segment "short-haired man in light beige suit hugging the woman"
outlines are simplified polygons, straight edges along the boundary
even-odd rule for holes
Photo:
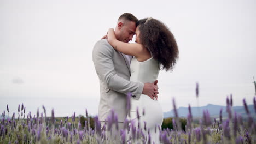
[[[130,13],[122,14],[115,35],[118,40],[128,43],[135,34],[138,19]],[[97,41],[92,52],[96,73],[100,79],[100,104],[98,106],[98,118],[101,125],[113,109],[118,116],[119,128],[123,128],[123,122],[127,117],[126,95],[139,99],[146,94],[154,99],[158,94],[158,87],[154,83],[132,82],[130,80],[131,56],[118,52],[108,44],[107,39]],[[155,82],[157,83],[157,82]]]

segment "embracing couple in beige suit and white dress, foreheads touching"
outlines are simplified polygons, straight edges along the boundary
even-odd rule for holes
[[[134,34],[136,43],[129,44]],[[176,40],[164,23],[150,17],[138,20],[130,13],[122,14],[115,29],[110,28],[92,52],[100,80],[98,118],[102,127],[114,111],[118,128],[123,129],[127,119],[136,127],[141,125],[142,129],[146,124],[147,140],[160,143],[159,129],[155,130],[163,121],[157,100],[157,78],[160,69],[173,69],[178,53]],[[129,111],[126,110],[127,94],[132,95]],[[118,134],[115,139],[119,142],[119,130],[112,128],[106,132],[110,137]]]

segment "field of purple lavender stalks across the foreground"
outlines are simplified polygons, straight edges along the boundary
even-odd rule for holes
[[[127,95],[128,108],[130,96]],[[256,98],[253,98],[254,112],[256,112]],[[172,118],[173,129],[164,129],[160,125],[155,126],[155,131],[159,130],[161,143],[256,143],[256,122],[253,119],[252,111],[248,110],[246,100],[243,105],[247,117],[233,112],[232,96],[226,98],[226,111],[228,118],[223,119],[222,111],[219,118],[210,118],[210,113],[203,111],[203,117],[199,124],[193,122],[190,105],[189,114],[185,129],[181,128],[180,119],[173,99],[175,117]],[[91,118],[85,110],[85,118],[72,117],[55,118],[54,110],[51,117],[46,116],[46,109],[43,106],[43,113],[39,111],[32,116],[27,112],[26,107],[18,106],[18,113],[10,115],[9,107],[3,111],[0,124],[0,143],[155,143],[150,140],[150,134],[146,134],[148,129],[146,123],[134,125],[125,121],[124,128],[118,128],[117,116],[114,111],[108,117],[108,123],[101,125],[98,117]],[[18,115],[18,119],[15,119]],[[146,114],[145,114],[146,115]],[[118,129],[120,141],[111,139],[106,135],[106,131]]]

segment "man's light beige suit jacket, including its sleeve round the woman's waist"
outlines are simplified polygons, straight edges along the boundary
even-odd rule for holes
[[[107,39],[99,40],[94,46],[92,59],[100,80],[100,104],[98,117],[105,121],[111,109],[118,115],[118,121],[124,122],[127,116],[126,95],[131,92],[139,99],[144,84],[130,80],[130,64],[126,57],[109,45]]]

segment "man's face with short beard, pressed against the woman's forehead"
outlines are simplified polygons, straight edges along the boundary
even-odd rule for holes
[[[135,34],[136,23],[133,21],[125,21],[121,27],[119,27],[119,39],[124,43],[128,43],[132,40],[133,35]]]

